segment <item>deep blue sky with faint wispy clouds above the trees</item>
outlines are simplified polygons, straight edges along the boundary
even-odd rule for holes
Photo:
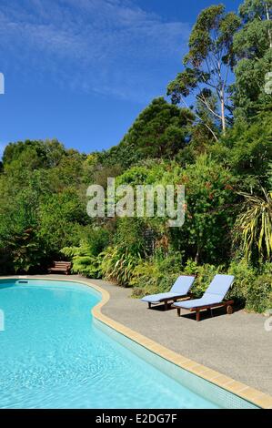
[[[196,15],[219,3],[1,0],[0,152],[26,138],[86,153],[116,145],[181,70]]]

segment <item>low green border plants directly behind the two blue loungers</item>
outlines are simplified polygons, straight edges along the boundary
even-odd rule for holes
[[[261,271],[250,267],[245,260],[232,262],[228,269],[210,264],[197,265],[187,260],[182,266],[180,257],[172,254],[165,260],[142,260],[134,271],[130,285],[134,287],[133,296],[143,297],[170,290],[179,275],[195,275],[192,293],[199,298],[217,273],[235,276],[234,284],[227,298],[233,299],[237,307],[247,311],[263,312],[271,309],[272,304],[272,265],[265,265]]]

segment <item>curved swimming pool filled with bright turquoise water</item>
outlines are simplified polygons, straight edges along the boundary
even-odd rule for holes
[[[100,299],[75,282],[0,281],[0,408],[254,407],[95,321]]]

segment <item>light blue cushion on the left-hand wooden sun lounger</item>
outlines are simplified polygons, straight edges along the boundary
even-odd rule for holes
[[[171,299],[186,296],[186,294],[192,287],[194,280],[195,277],[192,276],[180,276],[177,278],[175,284],[173,285],[170,291],[146,296],[141,299],[141,301],[146,301],[147,303],[159,303],[160,301],[170,301]]]

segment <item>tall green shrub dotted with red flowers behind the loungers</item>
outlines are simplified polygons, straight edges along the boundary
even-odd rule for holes
[[[178,248],[197,262],[226,260],[235,220],[237,179],[204,155],[186,168],[180,182],[186,186],[186,220],[177,238],[177,231],[171,231]]]

